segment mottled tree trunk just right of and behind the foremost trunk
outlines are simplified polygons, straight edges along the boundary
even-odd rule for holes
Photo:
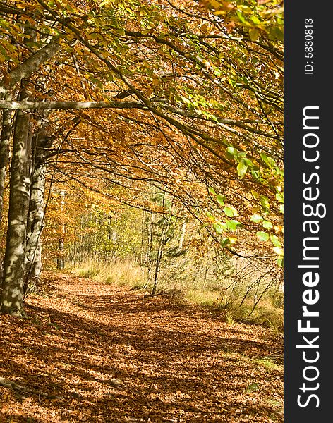
[[[25,290],[35,290],[42,272],[42,242],[44,228],[44,191],[46,149],[52,145],[49,137],[35,137],[35,153],[31,172],[27,244],[25,247]]]

